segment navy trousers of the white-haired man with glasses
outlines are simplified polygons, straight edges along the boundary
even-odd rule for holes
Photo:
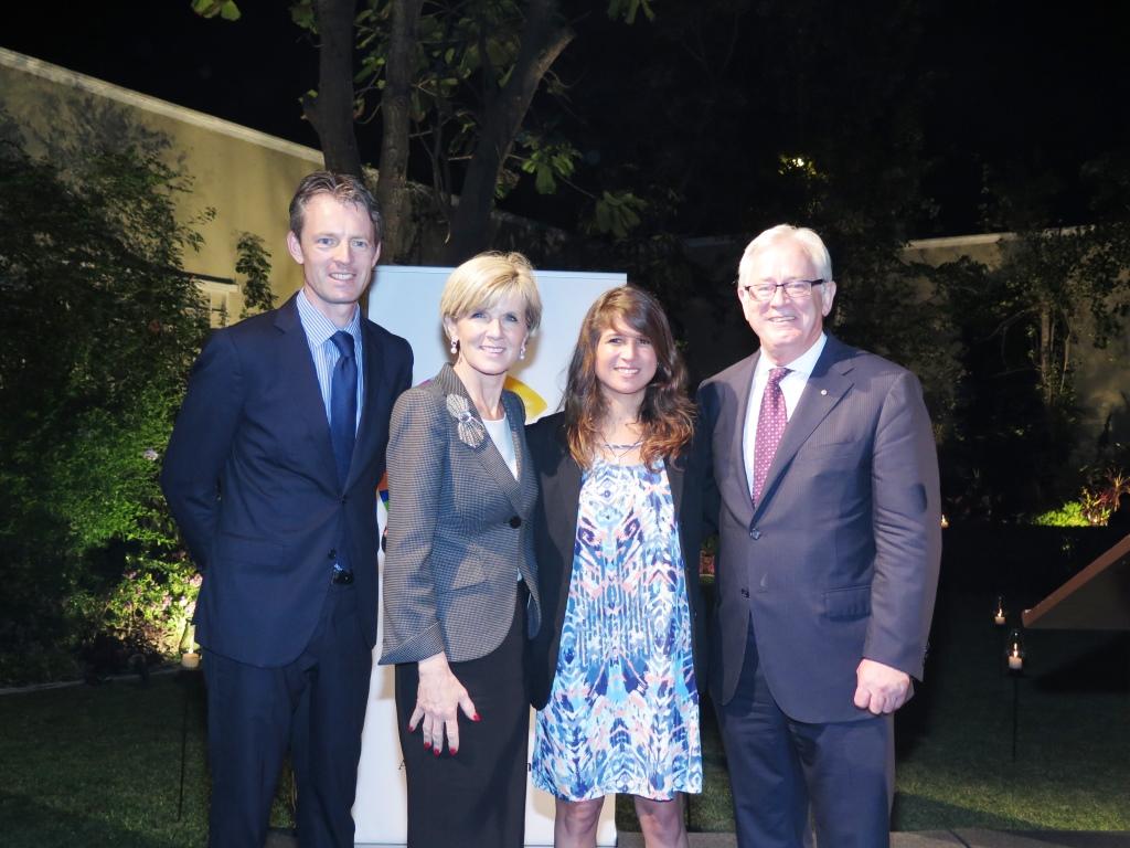
[[[739,848],[802,848],[811,805],[820,848],[890,843],[894,718],[806,724],[777,706],[753,626],[738,689],[718,706]]]

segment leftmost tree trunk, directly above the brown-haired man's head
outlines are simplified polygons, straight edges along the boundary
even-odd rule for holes
[[[354,132],[354,15],[356,0],[318,0],[318,96],[303,95],[302,109],[318,132],[328,171],[362,176]]]

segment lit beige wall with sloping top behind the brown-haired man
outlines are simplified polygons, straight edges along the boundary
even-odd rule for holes
[[[271,253],[271,286],[280,297],[302,285],[298,267],[286,252],[287,205],[298,181],[322,166],[322,155],[245,127],[176,106],[58,66],[0,49],[0,109],[32,135],[58,137],[77,122],[101,114],[114,131],[114,113],[166,136],[171,163],[193,180],[191,194],[177,198],[182,220],[212,207],[214,220],[197,231],[205,237],[199,253],[185,257],[193,274],[235,278],[235,244],[241,232],[262,237]],[[94,121],[97,123],[97,121]],[[232,319],[242,298],[231,284],[206,283],[212,303],[228,300]]]

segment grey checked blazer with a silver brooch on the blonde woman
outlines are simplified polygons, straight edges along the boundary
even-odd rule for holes
[[[466,400],[481,434],[477,445],[460,438],[449,396]],[[516,481],[450,365],[401,395],[392,410],[382,665],[418,663],[441,651],[453,663],[490,654],[510,630],[519,572],[530,590],[528,631],[538,632],[530,521],[538,484],[525,444],[525,407],[510,391],[502,403],[514,436]]]

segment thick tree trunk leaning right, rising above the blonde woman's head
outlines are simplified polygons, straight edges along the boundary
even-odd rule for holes
[[[495,185],[542,77],[573,40],[557,21],[556,0],[530,0],[518,61],[483,115],[479,140],[463,178],[444,261],[458,265],[489,246]]]

